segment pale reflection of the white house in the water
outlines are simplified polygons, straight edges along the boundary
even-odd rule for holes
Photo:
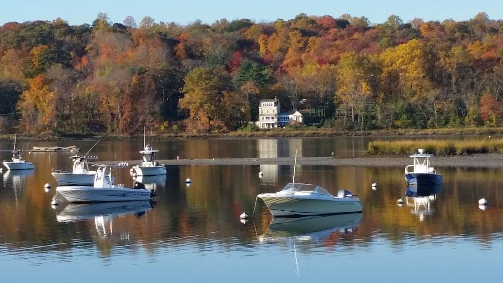
[[[302,139],[300,138],[268,138],[257,140],[257,156],[259,158],[279,158],[279,157],[297,157],[302,156]],[[290,165],[286,165],[290,167]],[[278,181],[279,165],[277,164],[262,164],[260,171],[264,174],[261,176],[261,183],[276,184]],[[291,169],[293,171],[293,167]],[[296,173],[301,172],[301,167],[298,166]]]

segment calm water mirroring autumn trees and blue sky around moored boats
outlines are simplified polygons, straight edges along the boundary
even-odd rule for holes
[[[358,156],[370,138],[193,139],[154,141],[158,158]],[[93,142],[71,142],[90,148]],[[49,145],[35,143],[33,145]],[[139,159],[142,140],[102,142],[102,160]],[[26,145],[25,145],[26,146]],[[12,147],[0,143],[0,149]],[[85,153],[85,151],[84,151]],[[406,198],[403,168],[299,166],[296,180],[331,193],[358,194],[363,214],[275,219],[256,195],[291,181],[291,166],[170,166],[142,180],[157,203],[62,203],[52,208],[51,168],[71,170],[70,153],[26,155],[32,172],[0,176],[2,282],[90,280],[312,282],[425,280],[457,282],[499,276],[503,248],[503,169],[438,168],[435,197]],[[10,158],[0,152],[0,159]],[[129,169],[117,172],[131,185]],[[264,176],[259,178],[258,172]],[[193,184],[187,187],[186,178]],[[45,192],[43,184],[53,183]],[[370,186],[378,182],[377,190]],[[489,206],[479,209],[486,197]],[[406,203],[398,206],[396,200]]]

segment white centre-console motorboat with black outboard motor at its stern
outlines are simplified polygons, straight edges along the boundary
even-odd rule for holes
[[[105,202],[105,201],[132,201],[150,200],[153,192],[145,189],[145,186],[135,182],[135,188],[124,188],[122,185],[114,185],[112,170],[124,168],[127,163],[117,165],[99,164],[96,171],[94,185],[88,186],[58,186],[56,191],[69,202]]]

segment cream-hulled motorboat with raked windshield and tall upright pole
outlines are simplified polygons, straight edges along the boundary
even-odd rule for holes
[[[331,195],[324,188],[295,183],[295,163],[293,181],[276,193],[261,193],[261,198],[274,217],[333,215],[361,213],[363,206],[360,199],[348,190],[340,190],[337,196]]]

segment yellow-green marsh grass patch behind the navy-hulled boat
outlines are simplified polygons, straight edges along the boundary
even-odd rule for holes
[[[400,139],[374,140],[369,143],[370,155],[408,155],[425,149],[436,155],[467,155],[477,153],[503,153],[503,138],[481,139]]]

